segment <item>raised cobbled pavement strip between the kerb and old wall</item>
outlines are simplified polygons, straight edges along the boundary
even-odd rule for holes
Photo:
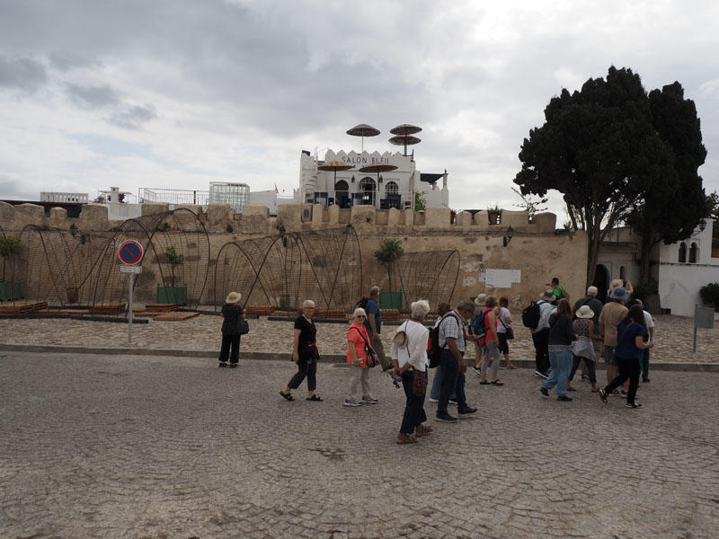
[[[510,343],[510,357],[533,359],[531,335],[515,314],[517,339]],[[652,361],[670,363],[719,363],[719,323],[713,330],[698,330],[697,353],[692,353],[694,326],[691,318],[661,315],[656,321],[656,348]],[[242,338],[242,349],[289,353],[292,346],[291,322],[272,322],[263,317],[250,320],[250,332]],[[135,324],[132,345],[135,349],[219,350],[219,316],[200,314],[182,322]],[[382,339],[389,349],[395,326],[384,326]],[[347,347],[342,323],[318,323],[317,344],[322,354],[344,354]],[[86,322],[69,319],[1,319],[0,342],[17,344],[58,344],[84,347],[128,346],[125,323]],[[474,347],[470,348],[470,355]]]

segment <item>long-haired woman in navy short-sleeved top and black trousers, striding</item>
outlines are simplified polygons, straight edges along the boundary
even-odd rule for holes
[[[616,290],[615,290],[616,291]],[[626,393],[626,407],[640,408],[642,405],[635,402],[636,388],[639,385],[639,357],[642,350],[651,349],[653,342],[648,342],[649,332],[644,327],[644,309],[641,305],[632,305],[626,319],[617,326],[617,367],[619,374],[599,390],[599,397],[607,404],[607,395],[612,393],[619,385],[629,380],[629,391]]]

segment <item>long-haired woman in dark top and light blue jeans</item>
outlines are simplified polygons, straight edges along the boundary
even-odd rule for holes
[[[549,390],[556,386],[556,400],[569,402],[567,396],[567,378],[572,369],[572,342],[576,335],[572,329],[572,308],[567,299],[560,299],[556,304],[556,313],[549,319],[549,365],[552,367],[549,377],[539,391],[546,397]]]

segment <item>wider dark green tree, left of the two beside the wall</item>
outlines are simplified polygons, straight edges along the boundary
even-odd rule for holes
[[[545,196],[550,189],[564,195],[573,228],[589,237],[590,284],[608,231],[636,212],[646,193],[677,196],[676,157],[631,69],[612,66],[606,79],[563,90],[546,106],[545,119],[524,139],[514,182],[525,195]]]

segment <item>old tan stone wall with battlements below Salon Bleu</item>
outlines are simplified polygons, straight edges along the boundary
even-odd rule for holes
[[[175,207],[178,208],[178,207]],[[425,212],[412,210],[377,210],[356,206],[342,209],[337,206],[281,205],[278,216],[269,215],[264,206],[247,206],[242,214],[235,214],[227,205],[209,205],[207,213],[198,206],[183,206],[200,216],[209,232],[210,274],[207,289],[213,289],[213,262],[222,245],[247,238],[279,234],[280,225],[288,232],[302,232],[352,225],[357,231],[363,254],[365,288],[372,284],[387,286],[386,270],[372,256],[379,243],[389,237],[403,240],[404,251],[457,250],[461,265],[457,287],[451,301],[474,297],[480,292],[508,296],[510,305],[519,307],[536,298],[552,277],[560,278],[572,299],[583,296],[586,278],[587,236],[584,233],[566,234],[556,231],[556,216],[537,214],[529,221],[522,211],[503,210],[501,223],[490,224],[486,211],[455,213],[449,208],[428,208]],[[142,214],[152,215],[168,209],[166,204],[145,204]],[[32,204],[12,206],[0,202],[0,225],[5,234],[18,235],[25,225],[57,227],[67,230],[75,225],[78,232],[106,237],[112,228],[121,224],[110,221],[107,207],[87,204],[77,218],[67,217],[62,208],[43,208]],[[508,226],[514,236],[503,245]],[[521,279],[507,288],[485,287],[480,274],[485,270],[520,270]],[[433,305],[434,306],[434,305]]]

